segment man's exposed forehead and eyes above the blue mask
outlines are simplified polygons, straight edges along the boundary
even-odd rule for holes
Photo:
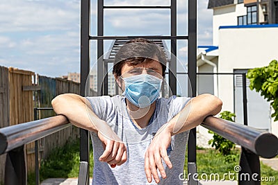
[[[152,60],[150,62],[142,63],[136,66],[131,66],[129,64],[124,64],[121,70],[122,78],[130,77],[130,76],[136,76],[140,74],[149,74],[152,76],[155,76],[156,78],[162,79],[162,66],[161,63]],[[119,79],[120,80],[120,79]],[[122,90],[124,90],[124,82],[123,80],[118,81],[120,82],[120,86],[122,87]]]

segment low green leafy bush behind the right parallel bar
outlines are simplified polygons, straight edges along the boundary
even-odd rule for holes
[[[234,113],[231,113],[229,111],[224,111],[220,113],[220,118],[233,121],[233,117],[236,115]],[[210,144],[212,147],[215,147],[216,150],[219,150],[221,155],[226,156],[225,161],[234,161],[234,154],[232,152],[232,149],[235,148],[236,144],[224,139],[224,137],[216,134],[215,132],[208,130],[208,133],[213,134],[213,139],[208,141],[208,144]]]

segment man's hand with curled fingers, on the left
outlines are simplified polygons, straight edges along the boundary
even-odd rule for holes
[[[112,168],[124,164],[127,159],[126,146],[117,134],[108,127],[105,132],[97,132],[97,135],[104,146],[104,153],[99,161],[107,162]]]

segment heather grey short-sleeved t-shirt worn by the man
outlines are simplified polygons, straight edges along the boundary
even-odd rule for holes
[[[149,125],[142,129],[136,127],[131,121],[126,110],[124,96],[99,96],[87,97],[90,100],[95,114],[106,121],[115,133],[124,141],[127,150],[127,160],[121,166],[111,168],[106,162],[99,161],[104,152],[97,134],[91,132],[94,153],[94,173],[92,184],[156,184],[147,182],[145,175],[145,152],[157,130],[167,121],[170,121],[186,105],[190,98],[172,96],[170,98],[158,98],[156,109]],[[166,179],[159,184],[182,184],[179,174],[183,173],[186,143],[189,131],[172,136],[167,155],[172,162],[172,169],[165,167]],[[159,177],[160,173],[158,173]]]

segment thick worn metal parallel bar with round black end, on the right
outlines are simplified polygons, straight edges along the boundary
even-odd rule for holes
[[[202,126],[261,157],[272,158],[278,154],[277,136],[270,132],[213,116],[208,116]]]

